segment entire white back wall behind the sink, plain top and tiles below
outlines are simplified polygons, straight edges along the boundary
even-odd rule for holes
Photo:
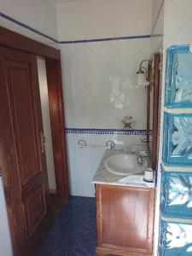
[[[60,41],[130,37],[150,34],[151,1],[73,1],[57,4]],[[140,143],[143,135],[96,134],[80,129],[122,129],[126,115],[135,129],[146,129],[146,90],[136,88],[140,61],[150,56],[150,38],[60,44],[72,195],[94,196],[91,179],[106,148],[88,144]]]

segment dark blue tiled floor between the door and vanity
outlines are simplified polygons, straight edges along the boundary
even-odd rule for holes
[[[72,196],[36,256],[96,255],[95,198]]]

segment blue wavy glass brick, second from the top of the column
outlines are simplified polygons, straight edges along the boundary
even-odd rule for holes
[[[192,113],[165,113],[163,162],[192,166]]]

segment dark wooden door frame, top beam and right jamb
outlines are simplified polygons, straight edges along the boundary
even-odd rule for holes
[[[40,43],[32,38],[27,38],[17,32],[10,31],[3,26],[0,26],[0,45],[10,49],[17,49],[30,54],[43,56],[45,58],[56,193],[62,200],[67,201],[67,143],[62,95],[60,50],[50,47],[47,44]]]

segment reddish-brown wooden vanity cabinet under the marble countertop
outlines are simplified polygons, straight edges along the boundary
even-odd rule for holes
[[[96,184],[96,256],[152,255],[154,189]]]

